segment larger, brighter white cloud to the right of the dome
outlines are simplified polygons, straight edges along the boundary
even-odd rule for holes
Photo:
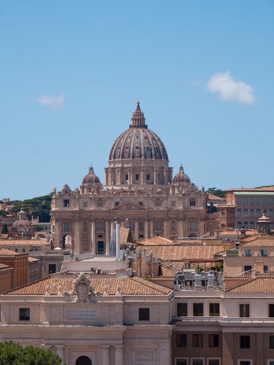
[[[255,104],[254,90],[243,81],[235,80],[230,72],[216,73],[207,83],[210,92],[218,92],[222,100],[234,100],[241,104]]]

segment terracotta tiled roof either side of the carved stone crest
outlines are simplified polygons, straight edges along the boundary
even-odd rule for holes
[[[47,277],[38,280],[35,283],[27,284],[23,287],[6,292],[4,295],[43,295],[46,287],[49,285],[49,293],[56,295],[58,288],[61,286],[61,292],[71,292],[73,290],[73,281],[76,276],[64,277]],[[164,295],[170,292],[169,288],[162,285],[144,280],[141,277],[91,277],[91,285],[94,292],[105,291],[105,286],[109,288],[109,294],[114,295],[117,287],[120,286],[120,292],[123,295]]]

